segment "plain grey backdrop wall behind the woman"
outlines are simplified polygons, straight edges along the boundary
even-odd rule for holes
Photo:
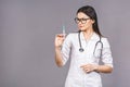
[[[130,0],[0,0],[0,87],[64,87],[69,61],[54,61],[54,36],[76,32],[76,11],[95,8],[108,37],[114,72],[103,74],[104,87],[130,87]]]

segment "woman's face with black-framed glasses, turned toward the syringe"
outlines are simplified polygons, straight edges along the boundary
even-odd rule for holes
[[[77,17],[75,18],[75,21],[78,24],[78,28],[82,32],[92,29],[92,24],[94,23],[93,20],[91,20],[88,15],[86,15],[82,12],[79,12],[77,14]]]

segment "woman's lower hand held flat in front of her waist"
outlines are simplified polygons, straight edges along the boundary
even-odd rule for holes
[[[96,64],[86,64],[80,66],[86,73],[91,73],[98,71],[99,65]]]

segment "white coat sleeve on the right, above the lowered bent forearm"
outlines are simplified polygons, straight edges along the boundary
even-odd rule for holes
[[[113,57],[112,57],[109,42],[108,42],[107,38],[103,38],[102,42],[103,42],[102,62],[105,65],[109,65],[113,67]]]

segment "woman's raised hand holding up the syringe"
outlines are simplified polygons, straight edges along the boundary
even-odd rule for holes
[[[57,48],[57,47],[62,47],[64,39],[65,39],[65,35],[63,35],[63,34],[57,34],[57,35],[55,36],[55,47],[56,47],[56,48]]]

